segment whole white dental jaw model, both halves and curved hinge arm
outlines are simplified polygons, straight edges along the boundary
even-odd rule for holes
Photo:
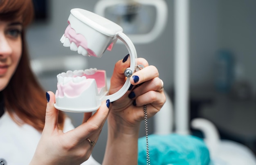
[[[127,77],[122,88],[108,95],[106,71],[90,68],[68,70],[57,75],[55,108],[66,112],[93,112],[101,101],[110,102],[122,97],[130,87],[130,76],[135,70],[137,53],[130,39],[122,32],[121,26],[95,13],[83,9],[72,9],[68,26],[61,37],[63,46],[83,56],[101,57],[106,50],[121,40],[130,54],[130,67],[124,72]]]

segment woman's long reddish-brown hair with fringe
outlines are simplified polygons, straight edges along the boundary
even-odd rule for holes
[[[34,8],[31,0],[0,0],[1,20],[14,20],[21,17],[23,27],[26,27],[33,20],[33,16]],[[18,124],[27,123],[42,131],[45,124],[47,103],[45,91],[31,70],[24,28],[21,35],[22,55],[15,73],[3,90],[4,105],[13,120]],[[58,124],[61,129],[63,128],[64,119],[64,113],[59,112]]]

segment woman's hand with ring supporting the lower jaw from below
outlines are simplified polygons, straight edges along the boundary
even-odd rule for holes
[[[45,127],[30,164],[81,164],[89,158],[93,149],[87,138],[95,143],[99,138],[108,117],[109,100],[103,101],[95,114],[85,113],[83,123],[77,128],[63,133],[57,125],[58,110],[54,108],[54,93],[47,93],[49,102],[46,108]]]

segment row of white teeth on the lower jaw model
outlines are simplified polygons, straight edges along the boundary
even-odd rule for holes
[[[57,75],[58,84],[67,84],[70,81],[74,83],[80,83],[86,80],[85,75],[93,75],[97,72],[97,68],[90,68],[85,70],[68,70],[66,73],[60,73]]]

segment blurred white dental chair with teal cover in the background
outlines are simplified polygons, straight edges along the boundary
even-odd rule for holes
[[[219,132],[207,119],[193,119],[191,127],[204,139],[173,132],[173,105],[166,103],[154,117],[155,132],[148,136],[151,164],[157,165],[256,165],[256,158],[245,145],[220,139]],[[139,139],[138,164],[146,162],[146,139]]]

